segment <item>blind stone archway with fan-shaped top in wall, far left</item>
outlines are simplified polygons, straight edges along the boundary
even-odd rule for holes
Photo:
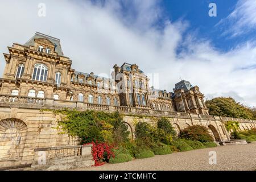
[[[21,161],[27,125],[19,119],[0,121],[0,159]]]

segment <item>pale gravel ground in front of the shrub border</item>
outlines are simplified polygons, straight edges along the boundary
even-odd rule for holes
[[[217,164],[209,164],[209,151],[217,152]],[[169,155],[156,155],[154,158],[134,159],[119,164],[104,164],[100,167],[87,167],[82,171],[175,171],[175,170],[255,170],[256,143],[218,146]]]

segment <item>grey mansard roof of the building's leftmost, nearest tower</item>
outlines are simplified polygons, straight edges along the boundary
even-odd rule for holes
[[[57,52],[57,54],[59,56],[64,56],[63,51],[60,46],[60,39],[53,38],[52,36],[45,35],[40,32],[36,32],[35,35],[32,36],[32,38],[24,44],[24,46],[27,46],[27,47],[34,46],[35,39],[47,39],[47,40],[51,41],[56,46],[55,52]]]

